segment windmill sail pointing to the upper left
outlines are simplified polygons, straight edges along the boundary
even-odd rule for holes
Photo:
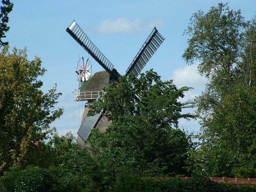
[[[114,69],[114,65],[101,53],[101,51],[91,42],[75,20],[66,30],[90,55],[93,57],[114,79],[118,79],[120,74]]]

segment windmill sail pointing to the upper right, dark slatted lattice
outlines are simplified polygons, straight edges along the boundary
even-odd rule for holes
[[[138,76],[164,40],[165,38],[158,32],[157,28],[154,28],[128,67],[125,76],[131,71],[135,76]]]

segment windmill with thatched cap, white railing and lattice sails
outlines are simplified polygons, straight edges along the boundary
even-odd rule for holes
[[[85,81],[75,96],[76,101],[87,101],[82,123],[78,131],[78,142],[84,144],[94,127],[97,126],[101,131],[104,131],[111,123],[107,121],[106,117],[103,115],[105,113],[104,109],[94,116],[87,117],[86,114],[89,110],[87,106],[91,105],[93,101],[97,99],[103,87],[107,87],[108,84],[116,82],[121,75],[114,68],[114,65],[102,54],[93,42],[91,42],[75,20],[66,31],[103,67],[103,69],[105,69],[105,71],[97,72],[89,80]],[[158,32],[156,27],[154,27],[142,45],[142,48],[140,48],[132,63],[129,65],[124,76],[128,76],[130,72],[138,76],[164,39],[165,38]]]

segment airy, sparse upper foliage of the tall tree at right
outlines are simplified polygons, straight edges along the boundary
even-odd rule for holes
[[[191,38],[183,58],[188,64],[199,61],[198,71],[209,81],[196,99],[199,114],[208,118],[236,84],[255,85],[255,30],[255,18],[246,22],[240,10],[229,10],[227,4],[193,14],[185,30]]]

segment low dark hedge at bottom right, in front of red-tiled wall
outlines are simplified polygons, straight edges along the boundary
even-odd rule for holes
[[[225,183],[211,181],[208,178],[189,178],[180,180],[179,178],[141,178],[136,175],[123,174],[118,176],[113,188],[109,191],[114,192],[249,192],[255,191],[255,187],[240,186],[235,187]]]

